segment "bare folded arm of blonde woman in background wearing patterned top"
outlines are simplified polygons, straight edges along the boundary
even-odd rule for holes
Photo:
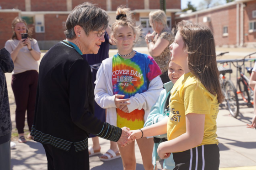
[[[152,40],[150,43],[147,42],[149,54],[152,57],[159,56],[169,45],[169,41],[164,38],[158,38],[155,43],[153,42],[153,36],[148,36],[147,39]]]

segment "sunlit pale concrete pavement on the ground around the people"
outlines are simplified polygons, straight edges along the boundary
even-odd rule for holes
[[[231,117],[225,109],[220,109],[217,125],[220,149],[220,170],[256,170],[256,129],[246,128],[253,116],[253,108],[241,108],[240,117]],[[28,141],[18,143],[11,150],[12,170],[47,170],[47,159],[41,143]],[[109,141],[100,139],[101,153],[110,146]],[[89,139],[89,145],[91,145]],[[136,144],[136,170],[144,170],[142,159]],[[99,160],[100,155],[90,158],[91,170],[122,170],[122,159],[108,162]],[[160,167],[160,166],[158,166]],[[236,168],[235,168],[236,167]]]

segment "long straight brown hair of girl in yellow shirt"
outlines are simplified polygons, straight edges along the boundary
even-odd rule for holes
[[[219,103],[224,101],[217,67],[215,43],[211,30],[203,25],[181,21],[177,30],[188,53],[188,69]]]

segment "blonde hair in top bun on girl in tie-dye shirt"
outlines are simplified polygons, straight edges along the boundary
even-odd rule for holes
[[[114,41],[116,41],[116,39],[114,38],[116,31],[117,31],[117,27],[118,26],[128,26],[129,28],[133,29],[133,33],[135,34],[135,41],[134,43],[136,43],[137,41],[140,41],[140,36],[142,35],[142,28],[141,26],[135,26],[135,20],[132,18],[132,13],[131,13],[131,9],[130,8],[126,8],[124,5],[121,5],[119,7],[117,7],[117,17],[116,17],[116,21],[113,23],[112,25],[112,38]]]

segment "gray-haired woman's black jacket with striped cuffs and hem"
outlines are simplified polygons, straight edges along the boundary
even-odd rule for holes
[[[94,117],[90,65],[70,44],[57,43],[40,63],[31,134],[66,151],[74,143],[80,151],[88,148],[89,133],[117,142],[122,129]]]

